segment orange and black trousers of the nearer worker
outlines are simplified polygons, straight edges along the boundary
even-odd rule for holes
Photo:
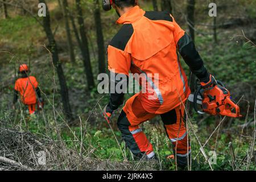
[[[139,125],[148,121],[148,119],[156,117],[157,114],[147,113],[146,110],[143,110],[141,100],[138,97],[133,98],[135,98],[133,101],[134,114],[138,117],[136,122],[131,122],[128,119],[131,113],[126,114],[122,110],[117,125],[127,146],[135,156],[141,158],[141,156],[146,155],[147,158],[152,158],[155,155],[153,146]],[[177,163],[185,165],[187,163],[187,156],[191,154],[191,147],[184,123],[184,104],[180,104],[167,113],[160,114],[160,117],[163,121],[167,137],[172,143]]]

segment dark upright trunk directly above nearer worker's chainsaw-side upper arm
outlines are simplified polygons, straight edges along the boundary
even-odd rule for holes
[[[187,20],[188,20],[188,28],[189,28],[189,35],[191,36],[193,42],[195,42],[195,0],[188,0],[187,6]]]

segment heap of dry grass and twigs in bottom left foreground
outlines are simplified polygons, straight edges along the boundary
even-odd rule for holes
[[[1,170],[152,170],[156,162],[112,162],[92,158],[86,150],[82,158],[76,150],[65,146],[64,142],[48,137],[38,137],[30,132],[0,128],[0,171]],[[41,165],[46,154],[46,164]],[[86,154],[85,154],[86,153]],[[4,162],[6,160],[6,162]],[[11,160],[13,163],[10,163]],[[14,163],[15,162],[15,163]]]

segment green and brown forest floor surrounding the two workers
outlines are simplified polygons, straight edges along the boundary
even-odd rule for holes
[[[58,11],[53,13],[59,17]],[[105,34],[106,42],[117,31],[114,22],[108,20],[109,17],[112,15],[104,17],[103,21],[105,29],[108,30],[108,34]],[[75,49],[76,64],[68,61],[65,30],[64,26],[57,26],[58,21],[60,24],[63,23],[61,19],[56,18],[53,20],[52,28],[56,29],[55,38],[60,49],[60,60],[67,78],[69,100],[76,119],[72,125],[63,119],[61,98],[57,94],[59,86],[57,80],[57,86],[54,84],[55,72],[52,68],[51,57],[41,46],[44,43],[47,44],[42,28],[30,16],[16,16],[9,20],[1,19],[0,156],[31,169],[42,170],[175,170],[174,162],[165,159],[166,155],[172,154],[172,150],[159,117],[142,125],[154,145],[159,161],[133,160],[133,156],[121,139],[121,133],[115,122],[113,122],[114,131],[112,131],[101,115],[98,104],[101,107],[107,104],[108,96],[102,98],[102,95],[97,93],[97,88],[92,92],[86,90],[80,52]],[[186,27],[185,24],[183,27]],[[216,164],[212,165],[214,170],[256,169],[255,157],[250,160],[246,158],[247,154],[255,155],[253,152],[256,150],[253,142],[256,52],[250,43],[246,43],[245,38],[239,36],[243,35],[242,30],[247,38],[255,42],[255,23],[218,29],[217,44],[213,43],[212,35],[200,34],[200,32],[209,32],[208,27],[197,27],[196,47],[205,61],[205,66],[218,80],[226,84],[234,100],[238,101],[242,98],[239,104],[242,118],[228,118],[220,123],[222,119],[220,117],[201,116],[194,113],[188,121],[193,158],[200,152],[200,144],[203,145],[210,134],[215,131],[204,147],[205,154],[209,158],[210,152],[217,153]],[[89,26],[88,38],[96,78],[97,47],[92,26]],[[8,52],[1,52],[6,50],[15,56]],[[11,109],[17,67],[18,64],[24,62],[30,64],[31,75],[38,79],[46,100],[44,111],[33,118],[26,114],[26,108],[20,103],[16,105],[16,110]],[[188,67],[182,64],[189,75]],[[113,121],[117,119],[119,111],[114,114]],[[230,142],[233,144],[236,155],[235,164],[231,157]],[[38,163],[39,153],[42,151],[47,156],[46,165]],[[26,169],[23,166],[6,165],[0,159],[0,170]],[[210,169],[201,153],[195,160],[192,160],[192,169]]]

